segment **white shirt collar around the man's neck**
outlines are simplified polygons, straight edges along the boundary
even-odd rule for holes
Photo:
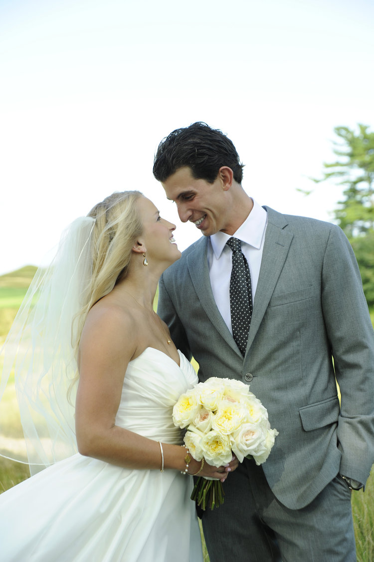
[[[239,238],[242,242],[253,246],[257,250],[260,250],[267,224],[267,212],[254,199],[252,201],[253,207],[250,214],[247,216],[244,223],[239,226],[233,236],[235,236],[235,238]],[[220,231],[210,236],[211,247],[213,248],[213,252],[217,260],[219,259],[229,238],[231,238],[229,234]]]

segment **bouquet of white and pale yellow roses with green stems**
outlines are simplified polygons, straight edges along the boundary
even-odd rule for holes
[[[267,409],[235,379],[212,377],[182,394],[173,408],[174,425],[187,428],[184,443],[196,460],[209,464],[229,463],[235,453],[240,463],[253,458],[257,465],[267,460],[278,435],[271,429]],[[206,509],[223,504],[219,480],[199,477],[192,500]]]

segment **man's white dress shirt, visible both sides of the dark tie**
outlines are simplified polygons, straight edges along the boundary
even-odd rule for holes
[[[244,223],[237,229],[236,233],[233,234],[235,238],[241,240],[241,249],[249,265],[253,300],[260,274],[267,222],[267,212],[253,200],[253,209]],[[224,232],[217,232],[210,236],[210,243],[208,244],[208,266],[210,284],[215,303],[228,329],[232,333],[229,293],[232,251],[226,246],[226,242],[229,238],[231,238],[231,236]]]

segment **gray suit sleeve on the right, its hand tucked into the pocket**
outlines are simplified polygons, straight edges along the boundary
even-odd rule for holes
[[[323,261],[322,307],[341,392],[340,473],[364,483],[374,461],[374,332],[357,261],[338,227]]]

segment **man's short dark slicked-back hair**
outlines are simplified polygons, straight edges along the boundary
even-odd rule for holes
[[[237,183],[243,178],[244,166],[232,141],[201,121],[175,129],[157,148],[153,167],[156,180],[164,182],[183,166],[191,169],[193,178],[209,183],[214,183],[222,166],[232,169]]]

